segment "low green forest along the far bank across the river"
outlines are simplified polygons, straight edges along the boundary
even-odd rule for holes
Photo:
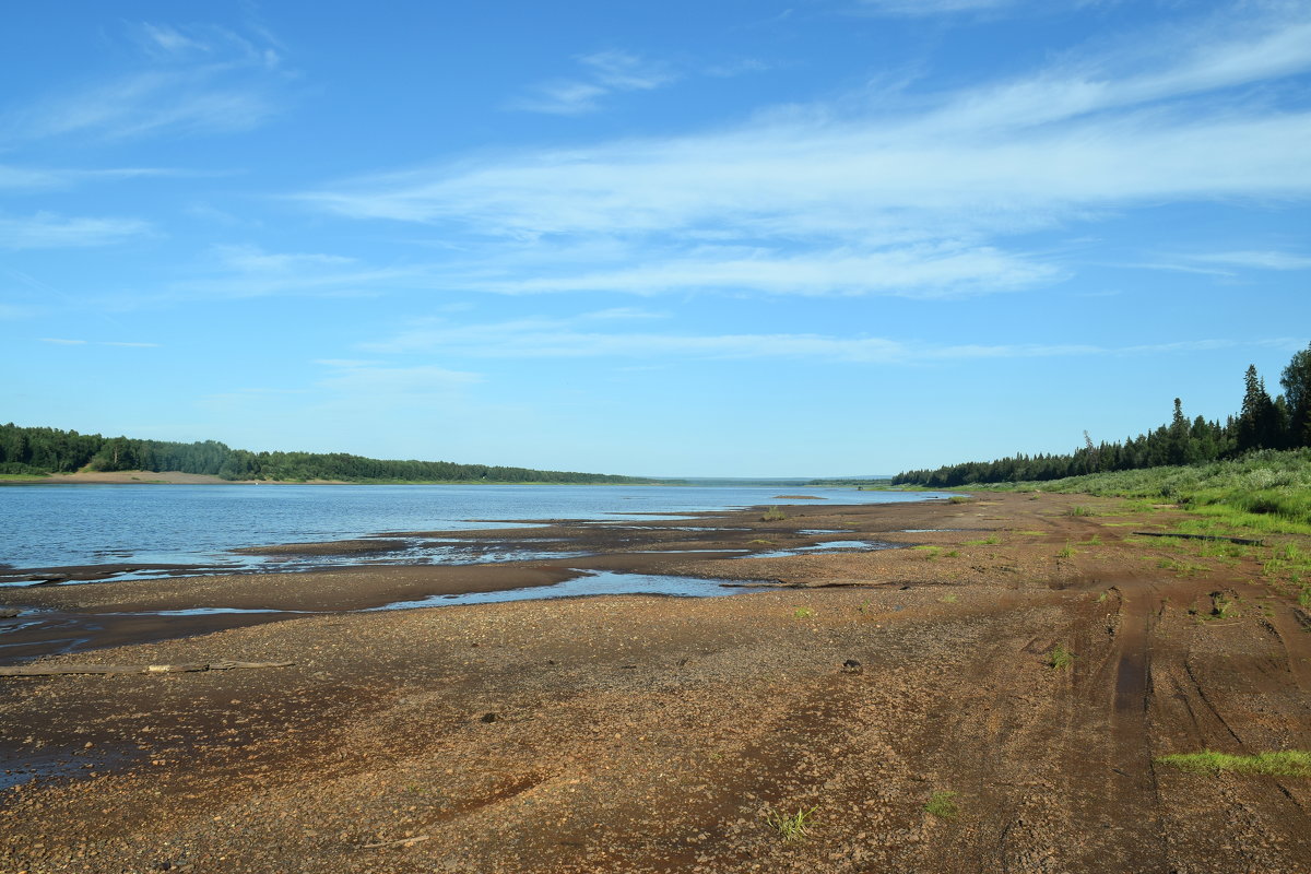
[[[224,480],[343,480],[406,482],[650,482],[638,477],[532,470],[450,461],[384,461],[345,452],[248,452],[223,443],[168,443],[104,438],[58,428],[0,425],[0,473],[89,470],[181,470]]]

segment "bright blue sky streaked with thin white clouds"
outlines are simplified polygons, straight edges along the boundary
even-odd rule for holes
[[[1311,339],[1311,3],[8,4],[0,421],[642,476],[1070,452]]]

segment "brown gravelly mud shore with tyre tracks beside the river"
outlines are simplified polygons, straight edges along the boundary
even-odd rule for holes
[[[316,612],[138,616],[41,660],[290,667],[0,677],[0,871],[1311,870],[1311,780],[1155,763],[1311,748],[1311,617],[1260,566],[1307,539],[1210,554],[1133,533],[1179,511],[1071,495],[785,511],[459,535],[582,556],[368,565],[370,539],[313,546],[340,570],[3,590],[109,625]],[[772,584],[359,612],[587,570]]]

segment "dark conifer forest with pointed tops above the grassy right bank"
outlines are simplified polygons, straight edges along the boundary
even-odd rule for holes
[[[906,470],[893,485],[961,486],[985,482],[1061,480],[1101,470],[1134,470],[1163,465],[1200,464],[1232,459],[1256,449],[1295,449],[1311,446],[1311,346],[1293,355],[1283,368],[1283,393],[1270,397],[1256,366],[1243,380],[1243,406],[1224,422],[1202,417],[1189,421],[1175,398],[1168,425],[1129,438],[1124,443],[1084,446],[1068,455],[1015,455],[995,461],[966,461],[936,470]]]

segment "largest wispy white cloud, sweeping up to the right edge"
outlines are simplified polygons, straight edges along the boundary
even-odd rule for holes
[[[1009,252],[1004,240],[1020,232],[1148,203],[1311,198],[1311,111],[1278,107],[1280,80],[1311,69],[1311,14],[1276,9],[1194,20],[1169,31],[1177,47],[1164,52],[1165,34],[1148,34],[949,93],[898,89],[726,130],[471,157],[296,197],[484,241],[517,270],[472,286],[490,291],[1032,287],[1066,270],[1055,256]],[[1262,98],[1239,100],[1247,88]],[[594,100],[577,96],[579,106]],[[610,265],[558,254],[600,244],[627,254]],[[534,262],[547,250],[549,269]]]

